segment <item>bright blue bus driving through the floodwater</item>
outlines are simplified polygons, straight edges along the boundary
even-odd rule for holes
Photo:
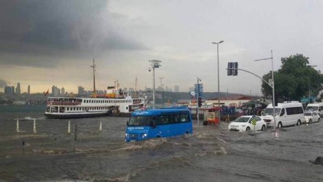
[[[126,122],[126,141],[172,137],[192,133],[192,116],[187,108],[135,111]]]

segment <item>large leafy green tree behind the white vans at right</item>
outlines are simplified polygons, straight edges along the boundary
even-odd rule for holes
[[[311,94],[318,95],[323,75],[309,65],[309,58],[296,54],[281,58],[282,65],[274,71],[275,98],[280,101],[300,100]],[[264,80],[271,78],[271,71],[263,76]],[[264,95],[272,95],[272,89],[265,82],[262,84]]]

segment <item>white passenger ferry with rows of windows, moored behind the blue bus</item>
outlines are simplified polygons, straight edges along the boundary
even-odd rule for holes
[[[45,116],[65,119],[97,117],[111,113],[131,113],[146,104],[144,98],[71,98],[48,97]]]

